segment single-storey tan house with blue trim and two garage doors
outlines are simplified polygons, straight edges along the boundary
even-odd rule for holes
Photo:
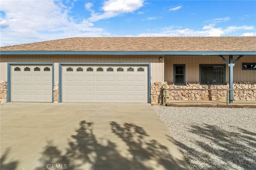
[[[74,37],[6,46],[0,81],[1,103],[159,104],[170,86],[255,89],[256,37]]]

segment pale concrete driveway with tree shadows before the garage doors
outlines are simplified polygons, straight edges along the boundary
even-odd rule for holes
[[[190,169],[150,104],[1,104],[1,170]]]

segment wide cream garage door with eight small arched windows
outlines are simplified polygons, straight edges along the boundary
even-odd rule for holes
[[[148,102],[147,66],[62,66],[63,102]]]

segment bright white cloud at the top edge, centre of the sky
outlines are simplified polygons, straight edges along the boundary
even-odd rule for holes
[[[134,12],[143,6],[144,0],[108,0],[104,2],[101,10],[103,13],[91,14],[89,21],[98,21],[112,18],[122,13]]]

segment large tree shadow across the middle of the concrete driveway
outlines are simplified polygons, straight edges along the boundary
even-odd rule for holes
[[[96,139],[92,122],[81,121],[65,152],[48,143],[36,170],[48,170],[48,164],[62,165],[68,170],[185,169],[174,161],[166,146],[146,139],[149,135],[142,127],[132,123],[122,126],[114,121],[110,122],[110,126],[112,133],[128,148],[127,155],[121,153],[117,143],[106,139],[102,143]]]

